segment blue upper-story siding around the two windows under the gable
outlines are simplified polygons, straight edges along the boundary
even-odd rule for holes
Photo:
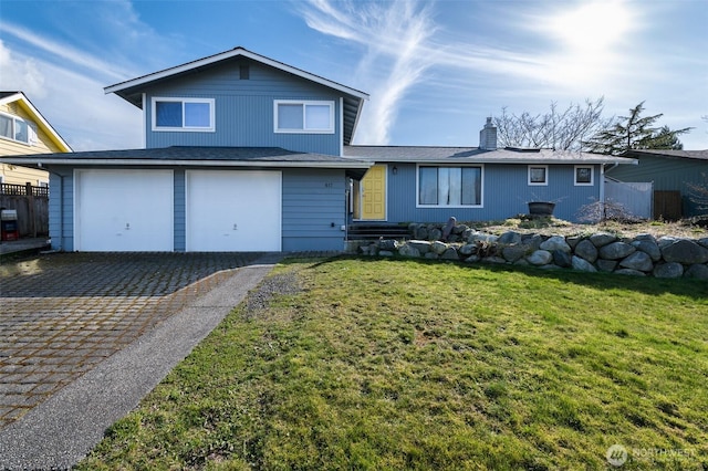
[[[250,78],[239,80],[239,65],[249,63]],[[153,132],[152,98],[215,98],[215,132]],[[275,100],[334,102],[334,134],[278,134],[273,132]],[[209,71],[153,86],[145,107],[146,147],[244,146],[340,155],[340,96],[321,86],[250,61],[235,61]]]

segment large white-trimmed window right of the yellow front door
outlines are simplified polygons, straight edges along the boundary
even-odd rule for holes
[[[418,166],[418,207],[482,206],[482,167]]]

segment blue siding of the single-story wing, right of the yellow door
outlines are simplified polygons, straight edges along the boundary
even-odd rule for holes
[[[397,168],[396,175],[393,168]],[[481,208],[418,208],[415,164],[388,164],[388,222],[445,222],[507,219],[528,212],[528,201],[555,201],[554,216],[577,220],[579,209],[600,198],[600,175],[593,166],[593,186],[574,185],[573,165],[550,165],[549,185],[529,186],[527,165],[483,165]]]

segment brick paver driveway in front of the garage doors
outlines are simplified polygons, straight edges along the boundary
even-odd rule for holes
[[[259,253],[58,253],[0,264],[0,428]]]

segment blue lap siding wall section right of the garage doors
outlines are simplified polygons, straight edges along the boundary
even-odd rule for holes
[[[283,251],[342,250],[345,205],[344,170],[284,170]]]

